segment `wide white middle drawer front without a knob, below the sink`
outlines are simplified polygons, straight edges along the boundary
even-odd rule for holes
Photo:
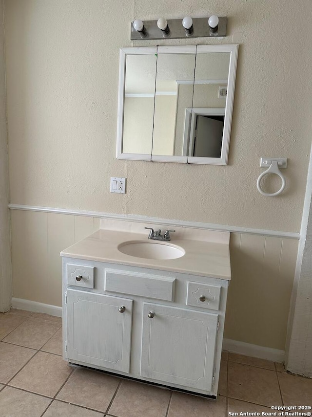
[[[175,278],[163,277],[140,272],[105,269],[105,291],[174,300]]]

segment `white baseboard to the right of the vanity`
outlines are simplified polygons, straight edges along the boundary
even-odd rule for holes
[[[223,339],[222,349],[240,355],[252,356],[260,359],[267,359],[273,362],[284,362],[285,351],[266,348],[264,346],[252,345],[251,343],[239,342],[238,340]]]

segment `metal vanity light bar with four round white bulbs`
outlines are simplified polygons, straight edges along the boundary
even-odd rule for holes
[[[185,38],[207,38],[226,36],[226,16],[212,15],[209,18],[191,18],[186,16],[181,19],[165,19],[141,21],[136,19],[131,23],[132,41],[141,39],[185,39]],[[160,30],[159,30],[160,29]]]

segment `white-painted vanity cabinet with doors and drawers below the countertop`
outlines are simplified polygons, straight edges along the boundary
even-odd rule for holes
[[[62,262],[65,360],[216,397],[228,280]]]

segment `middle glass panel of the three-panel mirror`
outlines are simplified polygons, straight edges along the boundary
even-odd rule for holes
[[[182,155],[181,132],[176,132],[176,128],[183,120],[185,108],[192,107],[195,53],[173,54],[166,53],[167,50],[166,47],[157,50],[152,154],[173,156]],[[177,80],[191,81],[191,91],[183,97],[180,97]]]

